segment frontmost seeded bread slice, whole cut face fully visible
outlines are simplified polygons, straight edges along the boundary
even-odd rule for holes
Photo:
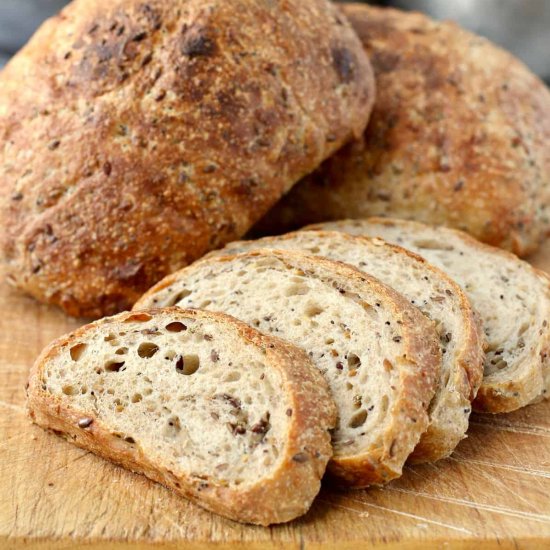
[[[31,417],[231,519],[305,513],[336,410],[306,354],[220,313],[122,313],[63,336],[32,368]]]

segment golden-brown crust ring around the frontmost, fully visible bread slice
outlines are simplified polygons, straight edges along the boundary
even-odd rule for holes
[[[311,365],[309,358],[295,346],[263,335],[248,325],[221,313],[166,308],[148,310],[148,314],[171,313],[177,318],[207,319],[231,328],[253,345],[265,349],[267,363],[276,368],[283,380],[281,391],[291,396],[292,415],[283,459],[278,469],[245,488],[207,484],[182,472],[159,467],[139,445],[128,445],[110,432],[101,419],[85,411],[93,422],[80,428],[82,411],[75,410],[42,389],[43,368],[66,345],[83,334],[105,324],[124,320],[134,313],[122,313],[81,327],[50,344],[31,369],[28,386],[28,408],[34,422],[53,430],[82,448],[112,460],[125,468],[142,473],[174,492],[218,514],[235,521],[269,525],[290,521],[305,513],[320,489],[325,466],[332,455],[329,429],[336,423],[336,408],[327,384]],[[299,460],[296,459],[299,456]]]

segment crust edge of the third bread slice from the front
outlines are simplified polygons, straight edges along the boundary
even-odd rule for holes
[[[211,252],[206,258],[213,257],[214,255],[235,254],[258,248],[287,249],[294,247],[310,253],[310,245],[316,241],[318,241],[320,246],[322,246],[322,243],[336,242],[352,247],[353,250],[362,247],[364,250],[363,257],[359,255],[356,260],[358,263],[362,259],[366,260],[367,267],[360,268],[357,263],[354,265],[367,273],[369,272],[368,258],[370,255],[376,257],[380,252],[391,253],[402,258],[402,261],[405,261],[405,267],[407,262],[412,262],[416,268],[422,269],[426,276],[440,281],[447,289],[452,289],[450,292],[452,292],[453,300],[459,302],[462,346],[454,353],[455,362],[449,373],[449,383],[443,387],[443,397],[440,395],[437,396],[440,401],[438,401],[437,411],[434,411],[435,416],[432,416],[430,413],[430,425],[422,435],[409,461],[431,462],[449,456],[458,443],[465,437],[466,430],[468,429],[471,401],[477,395],[483,378],[483,345],[485,339],[481,328],[476,322],[468,298],[448,275],[410,250],[386,243],[381,239],[374,241],[369,237],[327,231],[324,230],[323,224],[278,237],[265,237],[256,241],[236,241],[229,243],[225,248]],[[323,249],[319,250],[318,254],[322,255],[322,252]],[[336,255],[332,256],[331,259],[344,261],[342,258],[336,257]],[[410,275],[413,276],[412,270]],[[381,280],[383,283],[389,284],[388,281]],[[395,290],[400,291],[401,289],[395,288]],[[422,311],[422,308],[420,309]]]

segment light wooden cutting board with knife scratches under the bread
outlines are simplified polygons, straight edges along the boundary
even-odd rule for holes
[[[550,271],[550,243],[532,261]],[[0,310],[0,548],[550,548],[550,401],[473,416],[451,458],[384,489],[326,489],[298,521],[249,527],[32,426],[29,366],[79,322],[3,284]]]

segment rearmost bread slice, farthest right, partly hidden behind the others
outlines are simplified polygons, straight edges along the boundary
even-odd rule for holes
[[[550,281],[545,273],[445,227],[385,218],[315,227],[382,237],[421,254],[457,281],[480,315],[488,342],[475,409],[508,412],[548,396]]]

